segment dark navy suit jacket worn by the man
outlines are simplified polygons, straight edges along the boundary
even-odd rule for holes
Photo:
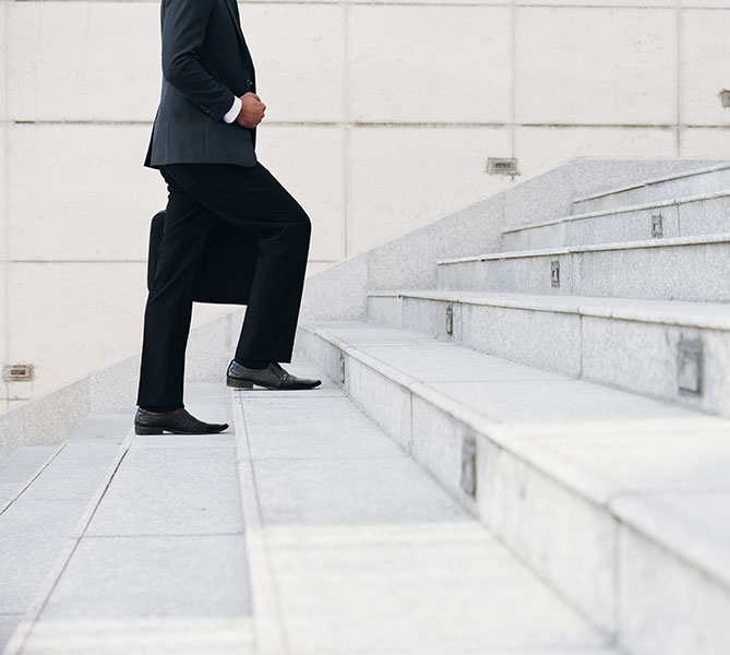
[[[227,123],[236,96],[255,92],[253,61],[229,0],[163,0],[163,92],[145,166],[253,166],[256,131]]]

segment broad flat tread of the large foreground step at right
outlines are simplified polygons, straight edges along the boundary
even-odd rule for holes
[[[730,585],[728,420],[412,332],[362,322],[303,330]]]

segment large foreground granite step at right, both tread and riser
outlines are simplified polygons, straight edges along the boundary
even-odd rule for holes
[[[730,652],[727,420],[362,322],[298,344],[622,652]]]

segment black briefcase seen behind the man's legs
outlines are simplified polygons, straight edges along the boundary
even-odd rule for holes
[[[153,216],[149,227],[147,290],[152,288],[155,278],[164,229],[165,211],[161,211]],[[216,216],[206,236],[199,262],[201,267],[195,275],[193,300],[248,305],[258,251],[258,239]]]

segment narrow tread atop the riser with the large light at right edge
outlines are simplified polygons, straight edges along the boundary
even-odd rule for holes
[[[378,290],[369,291],[368,296],[372,298],[422,298],[446,302],[464,302],[467,305],[575,313],[587,317],[662,323],[704,330],[730,330],[730,303],[728,302],[690,302],[685,300],[611,298],[603,296],[547,296],[539,294],[442,289]]]

